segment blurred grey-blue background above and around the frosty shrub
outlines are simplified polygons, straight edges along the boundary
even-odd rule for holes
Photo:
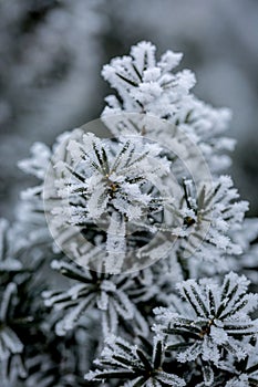
[[[0,0],[0,213],[31,180],[17,168],[35,142],[100,116],[111,57],[140,40],[184,53],[194,93],[233,109],[233,174],[258,216],[257,0]]]

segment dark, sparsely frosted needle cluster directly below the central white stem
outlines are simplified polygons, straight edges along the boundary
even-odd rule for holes
[[[152,292],[145,290],[144,283],[142,286],[136,286],[135,281],[137,280],[138,283],[138,275],[135,275],[135,280],[122,274],[110,276],[94,271],[83,271],[69,262],[53,261],[52,266],[64,275],[79,281],[68,291],[43,293],[48,307],[53,306],[55,311],[63,311],[55,325],[58,335],[65,335],[68,331],[76,326],[86,311],[94,311],[94,308],[101,312],[105,335],[111,332],[115,333],[121,320],[134,321],[136,332],[142,335],[146,334],[146,322],[135,302],[148,300],[155,292],[155,286]]]

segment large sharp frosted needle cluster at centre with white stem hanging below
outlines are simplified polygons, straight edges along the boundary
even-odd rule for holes
[[[164,181],[169,161],[159,146],[140,136],[111,142],[87,133],[71,139],[66,149],[66,160],[54,165],[60,206],[52,209],[53,221],[80,228],[85,238],[93,230],[103,236],[105,271],[120,273],[134,253],[132,230],[161,228],[157,215],[173,200]]]

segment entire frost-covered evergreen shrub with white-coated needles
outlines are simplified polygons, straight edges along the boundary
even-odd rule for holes
[[[230,118],[141,42],[101,118],[37,143],[0,222],[4,387],[258,386],[258,222],[226,174]]]

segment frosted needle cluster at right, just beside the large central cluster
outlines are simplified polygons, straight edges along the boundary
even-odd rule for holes
[[[239,254],[241,247],[230,239],[229,230],[241,228],[248,202],[236,201],[239,195],[233,187],[231,178],[220,176],[211,188],[206,188],[204,184],[198,196],[193,181],[185,180],[183,188],[182,208],[175,209],[184,224],[178,234],[183,237],[178,241],[179,249],[185,254],[195,254],[203,259],[211,252],[210,244],[228,254]],[[219,250],[216,253],[219,254]]]

